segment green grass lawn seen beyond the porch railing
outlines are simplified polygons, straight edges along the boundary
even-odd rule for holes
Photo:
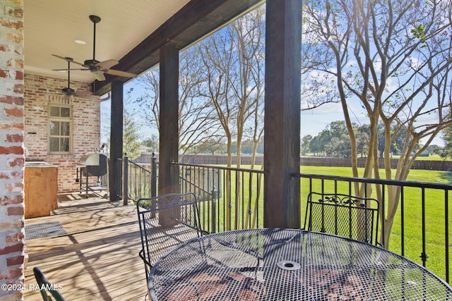
[[[249,168],[249,166],[242,166],[242,168]],[[259,168],[259,167],[256,167]],[[349,167],[319,167],[319,166],[302,166],[302,173],[312,173],[319,175],[333,175],[333,176],[352,176],[352,170]],[[362,173],[362,169],[359,170]],[[248,228],[248,223],[251,221],[251,227],[263,227],[263,189],[261,186],[261,192],[258,194],[256,190],[256,175],[251,179],[252,185],[249,185],[249,175],[242,175],[242,183],[240,183],[239,189],[239,204],[235,202],[235,195],[233,193],[231,204],[228,207],[225,204],[224,193],[218,200],[216,219],[220,224],[225,224],[227,214],[225,211],[230,210],[230,222],[231,229],[236,228],[234,222],[235,212],[240,212],[238,228]],[[412,170],[408,180],[415,182],[428,182],[428,183],[452,183],[452,173],[446,171],[424,171],[424,170]],[[237,191],[236,185],[237,178],[235,173],[231,174],[231,192]],[[332,181],[324,182],[324,192],[334,192],[335,188]],[[321,181],[314,180],[312,182],[312,190],[321,192]],[[348,193],[347,183],[338,183],[338,193]],[[304,224],[304,214],[306,207],[307,194],[309,192],[309,179],[301,180],[301,214],[302,225]],[[446,226],[450,229],[449,241],[452,242],[452,209],[449,209],[448,225],[446,225],[445,211],[445,197],[444,191],[437,191],[432,189],[424,190],[426,205],[425,205],[425,232],[426,232],[426,253],[427,268],[441,277],[445,277],[446,273]],[[391,233],[391,240],[388,247],[389,250],[402,254],[402,243],[404,244],[405,257],[412,259],[418,264],[422,264],[420,254],[422,253],[422,203],[421,203],[422,190],[420,188],[405,188],[403,204],[399,204],[398,211],[394,218],[393,231]],[[376,197],[376,195],[372,195]],[[244,201],[244,199],[246,201]],[[251,199],[251,204],[248,200]],[[448,196],[448,199],[452,199],[452,196]],[[403,206],[403,215],[402,213]],[[448,207],[452,207],[451,201],[449,201]],[[229,209],[228,209],[229,208]],[[249,211],[251,209],[251,211]],[[201,211],[204,211],[201,209]],[[210,210],[208,210],[210,211]],[[206,212],[206,211],[205,211]],[[258,223],[254,223],[254,219],[258,219]],[[402,221],[404,227],[402,227]],[[244,225],[244,226],[241,226]],[[301,225],[301,226],[302,226]],[[224,229],[220,229],[222,231]],[[402,237],[405,238],[402,242]],[[450,245],[449,247],[452,247]],[[450,263],[449,263],[450,265]],[[449,267],[452,271],[452,266]]]

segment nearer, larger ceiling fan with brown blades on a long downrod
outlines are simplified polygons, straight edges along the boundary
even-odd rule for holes
[[[65,61],[68,61],[69,63],[76,63],[80,66],[85,67],[83,69],[72,69],[72,70],[90,70],[91,73],[93,73],[94,78],[99,81],[105,80],[104,73],[111,74],[111,75],[117,75],[117,76],[124,76],[125,78],[136,78],[138,76],[136,74],[121,71],[121,70],[110,69],[110,68],[112,68],[112,66],[117,65],[119,63],[119,61],[115,61],[114,59],[109,59],[107,61],[97,61],[95,59],[96,23],[100,22],[100,17],[90,16],[90,20],[94,24],[93,59],[86,60],[83,63],[78,63],[77,61],[73,61],[73,59],[69,60],[68,58],[65,58],[63,56],[57,56],[57,54],[52,54],[52,56],[56,56],[59,59],[64,59]],[[54,69],[54,70],[59,71],[59,70],[66,70],[66,69]]]

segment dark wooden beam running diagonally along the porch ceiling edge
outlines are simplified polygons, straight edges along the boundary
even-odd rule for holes
[[[229,23],[237,16],[263,4],[263,0],[191,0],[186,6],[163,23],[155,32],[119,60],[114,69],[141,74],[159,62],[159,49],[168,42],[184,49],[210,32]],[[112,80],[127,82],[122,78],[105,74],[105,81],[93,82],[93,91],[103,95],[112,89]]]

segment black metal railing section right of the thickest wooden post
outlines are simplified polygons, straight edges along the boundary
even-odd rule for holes
[[[364,197],[376,197],[381,191],[381,212],[388,216],[388,188],[400,189],[398,209],[393,218],[389,250],[422,264],[450,282],[451,216],[449,195],[452,185],[419,183],[402,180],[321,176],[306,173],[292,175],[300,178],[302,204],[311,191],[355,195],[355,184],[364,187]],[[302,208],[304,208],[302,206]],[[380,214],[381,216],[381,214]],[[385,233],[388,221],[380,223],[379,233]],[[380,241],[384,241],[384,235]]]

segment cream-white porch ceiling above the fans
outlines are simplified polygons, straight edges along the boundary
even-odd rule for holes
[[[83,63],[93,59],[93,22],[96,24],[95,59],[119,61],[189,0],[24,0],[25,73],[66,79],[52,69],[68,63],[52,54]],[[86,44],[76,44],[76,39]],[[81,68],[71,63],[71,68]],[[112,67],[114,69],[114,66]],[[93,82],[89,71],[71,71],[71,80]]]

